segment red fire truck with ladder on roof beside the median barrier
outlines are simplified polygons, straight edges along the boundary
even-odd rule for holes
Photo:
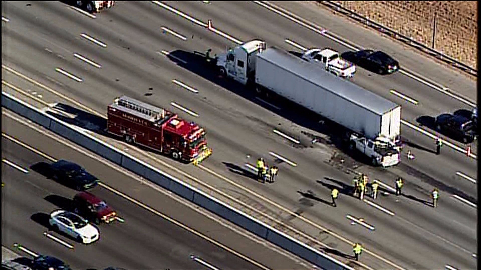
[[[129,144],[160,151],[175,160],[198,164],[212,154],[205,130],[168,110],[122,96],[107,111],[107,132]]]

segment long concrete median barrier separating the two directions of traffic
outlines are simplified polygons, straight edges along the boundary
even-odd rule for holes
[[[237,224],[245,230],[275,244],[311,263],[326,270],[354,270],[344,263],[323,254],[311,246],[305,245],[291,236],[279,232],[271,226],[235,209],[215,197],[209,196],[201,190],[184,183],[177,178],[162,172],[144,161],[103,142],[92,135],[85,133],[81,128],[65,123],[34,106],[2,92],[1,106],[11,110],[30,121],[60,135],[76,144],[89,149],[102,158],[139,174],[154,184],[174,192],[194,204],[207,209],[216,215]]]

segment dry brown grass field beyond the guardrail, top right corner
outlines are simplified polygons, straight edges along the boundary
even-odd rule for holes
[[[338,1],[344,8],[389,27],[403,36],[443,51],[473,68],[478,55],[477,1]]]

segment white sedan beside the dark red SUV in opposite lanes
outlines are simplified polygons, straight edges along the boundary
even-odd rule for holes
[[[91,244],[100,238],[99,229],[84,218],[65,210],[53,211],[49,223],[54,231],[66,233],[83,244]]]

